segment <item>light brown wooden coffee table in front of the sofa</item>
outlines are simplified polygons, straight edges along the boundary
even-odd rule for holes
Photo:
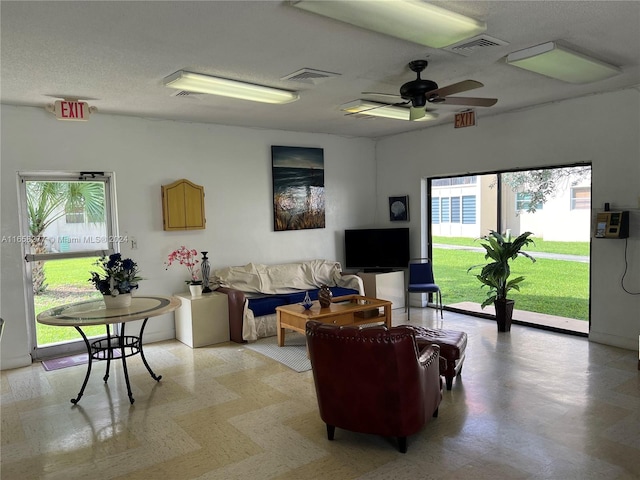
[[[391,302],[362,295],[345,295],[334,298],[326,308],[320,308],[318,301],[313,302],[308,310],[298,303],[276,307],[278,346],[284,346],[285,329],[305,333],[309,320],[334,325],[384,322],[391,328]]]

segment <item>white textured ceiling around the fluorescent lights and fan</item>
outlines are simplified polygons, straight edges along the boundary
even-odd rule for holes
[[[415,78],[411,60],[439,86],[473,79],[468,95],[495,97],[488,116],[640,84],[639,1],[431,2],[487,23],[508,42],[469,57],[415,45],[293,8],[281,1],[0,2],[3,104],[87,99],[111,113],[254,128],[380,137],[452,123],[461,107],[436,106],[435,122],[345,116],[363,91],[396,94]],[[560,40],[622,68],[614,78],[572,85],[504,63],[510,52]],[[281,80],[301,68],[339,73],[317,84]],[[300,92],[268,105],[172,96],[162,79],[190,70]],[[464,96],[465,94],[463,94]],[[594,112],[594,115],[597,112]]]

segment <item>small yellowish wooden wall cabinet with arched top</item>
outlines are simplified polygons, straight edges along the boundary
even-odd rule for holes
[[[204,187],[184,178],[162,185],[162,228],[202,230],[205,224]]]

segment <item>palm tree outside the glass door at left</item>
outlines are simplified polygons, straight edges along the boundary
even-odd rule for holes
[[[56,220],[71,211],[82,211],[91,223],[104,222],[104,184],[101,182],[28,181],[27,214],[31,253],[47,253],[44,232]],[[47,288],[44,262],[32,265],[33,293]]]

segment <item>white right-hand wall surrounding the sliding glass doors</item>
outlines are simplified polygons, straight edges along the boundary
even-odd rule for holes
[[[477,127],[442,125],[376,145],[379,216],[390,195],[410,196],[412,255],[426,253],[420,251],[420,230],[429,227],[419,201],[421,178],[591,162],[592,222],[605,202],[630,210],[625,286],[640,292],[640,92],[592,95],[492,117],[478,114]],[[592,241],[589,338],[635,350],[640,295],[620,286],[624,250],[624,240]]]

